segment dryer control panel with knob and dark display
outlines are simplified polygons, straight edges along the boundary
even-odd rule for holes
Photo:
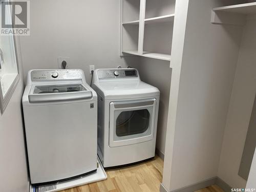
[[[138,77],[135,69],[106,69],[98,71],[99,79]]]

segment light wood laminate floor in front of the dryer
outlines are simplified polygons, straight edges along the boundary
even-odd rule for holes
[[[155,159],[127,166],[106,170],[108,179],[82,185],[61,192],[158,192],[162,182],[163,160]],[[212,185],[196,192],[224,192],[217,185]]]

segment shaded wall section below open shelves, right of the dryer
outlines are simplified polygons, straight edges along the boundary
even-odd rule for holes
[[[132,67],[139,70],[142,81],[160,90],[156,148],[164,154],[172,69],[169,68],[169,61],[145,57],[141,57],[139,65],[132,65]]]

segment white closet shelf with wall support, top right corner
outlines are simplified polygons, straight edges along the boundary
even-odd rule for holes
[[[256,14],[256,2],[212,9],[211,23],[243,26],[246,16]]]

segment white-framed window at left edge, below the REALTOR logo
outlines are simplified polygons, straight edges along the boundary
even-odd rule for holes
[[[6,12],[6,19],[11,23],[11,11]],[[18,83],[18,63],[16,44],[13,35],[0,35],[0,109],[4,112],[8,101]]]

